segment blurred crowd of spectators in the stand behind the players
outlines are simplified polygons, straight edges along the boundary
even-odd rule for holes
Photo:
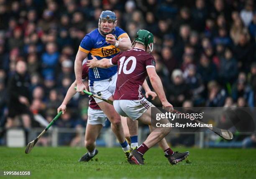
[[[139,29],[154,34],[156,71],[174,106],[255,107],[255,7],[253,0],[0,0],[0,125],[29,130],[40,117],[51,121],[102,10],[116,13],[132,41]],[[84,127],[88,100],[75,95],[56,126]]]

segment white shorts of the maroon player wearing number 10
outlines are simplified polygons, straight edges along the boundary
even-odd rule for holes
[[[113,105],[115,111],[121,116],[136,120],[141,117],[152,104],[143,97],[141,100],[114,100]]]

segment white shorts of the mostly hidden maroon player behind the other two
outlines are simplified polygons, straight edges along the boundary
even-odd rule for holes
[[[105,121],[107,119],[107,116],[103,113],[100,109],[92,109],[88,108],[88,121],[87,124],[95,125],[95,124],[101,124],[102,126],[105,126]]]

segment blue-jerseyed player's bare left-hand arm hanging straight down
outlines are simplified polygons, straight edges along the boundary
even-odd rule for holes
[[[77,51],[77,56],[74,62],[74,71],[76,75],[77,82],[77,92],[84,94],[83,90],[86,90],[86,86],[82,82],[82,62],[87,57],[88,53],[82,52],[81,50]]]

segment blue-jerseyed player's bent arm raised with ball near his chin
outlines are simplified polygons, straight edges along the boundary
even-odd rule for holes
[[[116,40],[114,35],[108,34],[106,35],[106,42],[114,45],[115,47],[118,47],[121,51],[132,49],[131,40],[127,35],[123,38],[120,38],[119,40]]]

